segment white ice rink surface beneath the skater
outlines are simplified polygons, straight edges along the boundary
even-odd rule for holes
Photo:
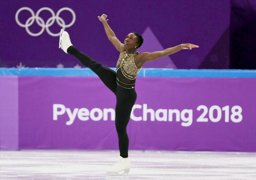
[[[256,179],[256,153],[130,150],[130,172],[106,173],[119,151],[0,150],[0,179]]]

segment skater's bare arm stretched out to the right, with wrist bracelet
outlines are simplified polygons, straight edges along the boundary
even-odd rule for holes
[[[182,47],[183,49],[192,49],[192,48],[199,48],[199,46],[197,45],[194,45],[194,44],[182,44]],[[143,62],[147,62],[147,61],[153,61],[155,59],[158,59],[158,58],[162,58],[162,57],[165,57],[165,56],[168,56],[170,54],[173,54],[173,53],[176,53],[178,51],[180,51],[182,48],[181,48],[181,44],[180,45],[177,45],[175,47],[172,47],[172,48],[167,48],[165,50],[162,50],[162,51],[156,51],[156,52],[153,52],[153,53],[141,53],[141,59]]]

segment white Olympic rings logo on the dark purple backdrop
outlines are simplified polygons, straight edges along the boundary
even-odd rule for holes
[[[21,11],[23,11],[23,10],[29,11],[29,12],[31,13],[31,15],[32,15],[30,18],[27,19],[27,21],[26,21],[25,24],[22,24],[22,23],[19,21],[19,18],[18,18],[19,13],[20,13]],[[73,19],[72,19],[71,23],[68,24],[68,25],[66,25],[66,24],[65,24],[65,21],[64,21],[61,17],[59,17],[60,13],[61,13],[62,11],[65,11],[65,10],[71,12],[71,14],[72,14],[72,16],[73,16]],[[43,20],[41,17],[39,17],[40,12],[42,12],[42,11],[49,11],[49,12],[52,14],[52,17],[50,17],[50,18],[46,21],[46,23],[44,22],[44,20]],[[16,22],[17,22],[17,24],[18,24],[19,26],[25,27],[27,33],[28,33],[29,35],[31,35],[31,36],[39,36],[39,35],[42,35],[42,33],[44,32],[45,29],[46,29],[47,33],[48,33],[49,35],[51,35],[51,36],[59,36],[59,35],[60,35],[60,32],[57,33],[57,34],[54,34],[54,33],[52,33],[52,32],[49,30],[49,27],[52,26],[53,23],[54,23],[55,20],[56,20],[57,24],[58,24],[59,26],[61,26],[63,30],[65,30],[65,28],[70,27],[71,25],[73,25],[73,24],[75,23],[75,21],[76,21],[76,14],[75,14],[75,12],[74,12],[71,8],[69,8],[69,7],[63,7],[63,8],[61,8],[61,9],[57,12],[57,14],[56,14],[56,16],[55,16],[55,13],[54,13],[54,11],[53,11],[51,8],[49,8],[49,7],[42,7],[41,9],[39,9],[39,10],[37,11],[37,13],[36,13],[36,15],[35,15],[35,13],[33,12],[33,10],[32,10],[31,8],[29,8],[29,7],[22,7],[22,8],[20,8],[20,9],[16,12],[16,14],[15,14],[15,20],[16,20]],[[32,32],[28,29],[29,26],[31,26],[31,25],[34,23],[35,20],[36,20],[37,24],[42,27],[41,31],[38,32],[38,33],[32,33]]]

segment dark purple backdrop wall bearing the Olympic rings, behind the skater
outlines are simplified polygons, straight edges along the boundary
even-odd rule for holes
[[[127,10],[128,6],[132,8]],[[228,0],[130,0],[129,4],[124,0],[12,0],[1,1],[0,10],[2,67],[81,65],[58,48],[61,28],[69,32],[72,44],[80,51],[115,67],[119,52],[97,18],[105,13],[122,43],[130,32],[143,35],[139,52],[161,51],[182,43],[200,47],[148,62],[145,67],[229,68]]]

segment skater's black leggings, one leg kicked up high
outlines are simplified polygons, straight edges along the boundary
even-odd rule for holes
[[[91,59],[84,53],[78,51],[74,46],[67,49],[67,53],[75,56],[83,65],[90,68],[99,76],[101,81],[116,95],[116,131],[118,135],[118,145],[120,156],[128,157],[129,138],[126,127],[130,120],[131,109],[135,104],[137,93],[135,88],[126,89],[116,85],[116,72],[101,63]]]

